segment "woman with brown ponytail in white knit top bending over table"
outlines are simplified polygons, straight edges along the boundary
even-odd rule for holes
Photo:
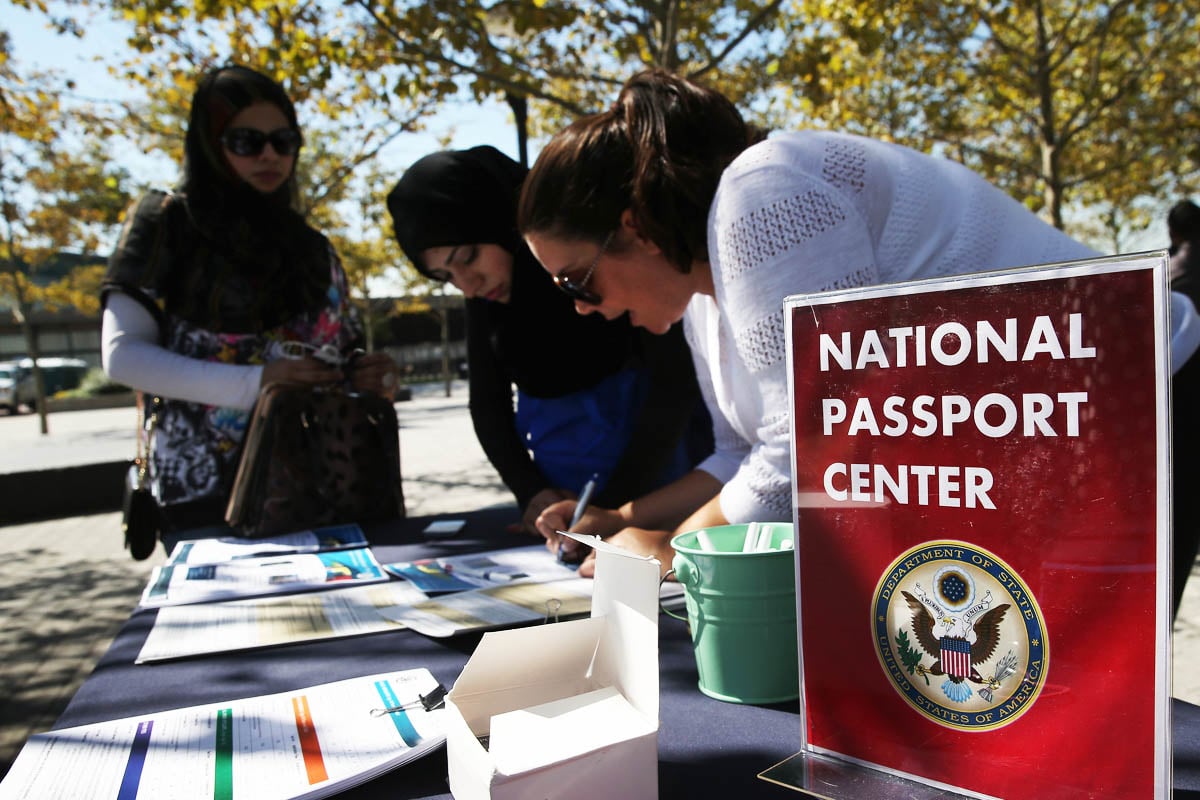
[[[792,518],[786,295],[1097,254],[959,163],[828,131],[764,139],[727,98],[664,71],[553,138],[518,224],[580,313],[628,312],[652,331],[685,320],[715,452],[576,525],[665,565],[676,531]],[[1181,306],[1189,355],[1200,335]],[[539,519],[552,547],[572,510]]]

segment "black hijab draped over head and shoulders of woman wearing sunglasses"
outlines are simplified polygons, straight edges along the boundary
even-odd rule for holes
[[[140,235],[122,239],[109,260],[106,283],[143,288],[172,313],[193,325],[253,333],[318,309],[330,284],[328,240],[296,210],[295,163],[284,184],[263,194],[236,176],[226,161],[221,136],[242,109],[266,102],[299,131],[295,107],[283,88],[240,66],[212,70],[192,96],[184,144],[184,180],[176,194],[149,217],[138,213]],[[139,219],[132,221],[134,229]],[[166,243],[150,249],[151,225]]]

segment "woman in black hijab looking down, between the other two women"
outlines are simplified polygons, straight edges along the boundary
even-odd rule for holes
[[[536,535],[542,510],[574,503],[592,475],[595,501],[620,504],[712,446],[689,439],[707,419],[694,423],[703,404],[680,327],[658,337],[577,315],[517,234],[524,175],[494,148],[434,152],[404,173],[388,210],[416,270],[467,296],[472,422]]]

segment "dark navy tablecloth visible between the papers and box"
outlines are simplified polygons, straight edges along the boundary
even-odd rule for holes
[[[380,563],[530,543],[527,537],[504,533],[504,525],[517,518],[511,506],[454,518],[466,519],[467,525],[461,534],[443,541],[426,541],[421,536],[420,531],[433,518],[409,518],[364,528]],[[478,634],[433,639],[402,630],[134,664],[155,614],[152,609],[134,612],[59,717],[55,729],[415,667],[428,668],[450,687],[479,642]],[[799,750],[798,704],[739,705],[706,697],[696,687],[696,662],[686,626],[662,615],[659,632],[660,796],[796,796],[760,780],[757,774]],[[1171,710],[1175,798],[1200,799],[1200,706],[1172,700]],[[340,796],[450,798],[445,750]]]

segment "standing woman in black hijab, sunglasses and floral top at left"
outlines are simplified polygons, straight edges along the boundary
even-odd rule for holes
[[[301,144],[282,86],[245,67],[210,71],[192,97],[178,190],[131,210],[109,260],[104,368],[162,399],[150,475],[168,529],[222,524],[262,386],[349,377],[360,391],[394,391],[384,354],[343,369],[360,329],[336,253],[299,212]]]

